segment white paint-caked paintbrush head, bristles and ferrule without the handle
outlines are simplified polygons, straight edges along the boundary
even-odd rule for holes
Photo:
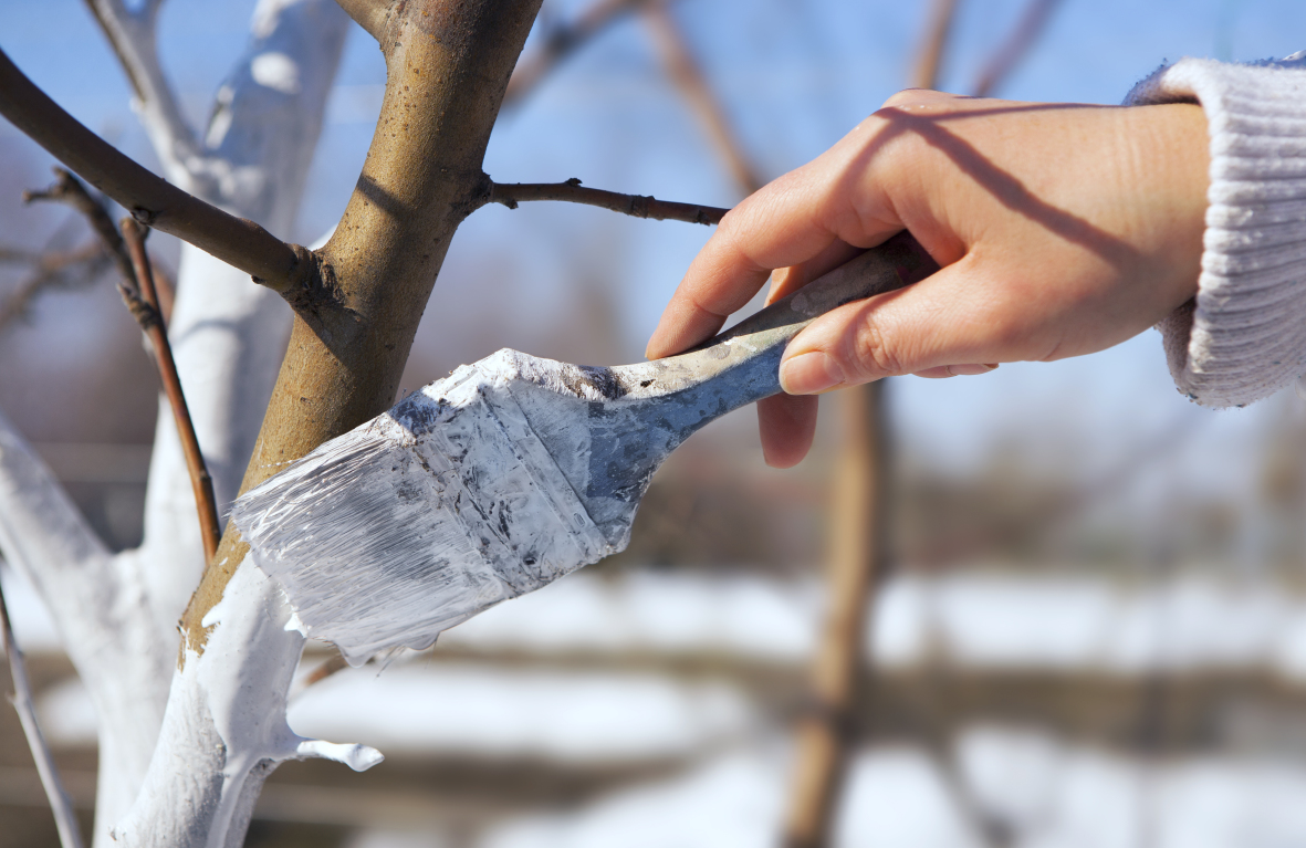
[[[351,664],[613,553],[494,366],[458,368],[232,508],[306,635]]]

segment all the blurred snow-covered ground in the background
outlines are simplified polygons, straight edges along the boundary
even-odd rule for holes
[[[55,635],[30,589],[4,572],[27,651]],[[785,807],[781,729],[734,685],[584,662],[512,666],[479,653],[712,656],[798,665],[815,644],[819,583],[629,571],[577,574],[441,636],[436,652],[346,670],[291,706],[306,734],[392,754],[526,757],[567,763],[679,760],[675,777],[565,814],[503,822],[483,848],[771,845]],[[1182,576],[1123,585],[1079,575],[970,570],[902,576],[880,592],[867,644],[905,668],[943,651],[964,668],[1106,670],[1259,668],[1306,682],[1306,597],[1285,587]],[[938,656],[938,653],[935,653]],[[61,743],[94,738],[74,681],[40,703]],[[859,751],[838,819],[842,847],[982,845],[977,817],[1023,848],[1306,845],[1306,760],[1286,753],[1145,760],[1013,726],[970,726],[940,763],[908,746]],[[436,832],[359,832],[354,848],[439,845]]]

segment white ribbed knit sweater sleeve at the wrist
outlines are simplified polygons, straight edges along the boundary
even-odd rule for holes
[[[1277,63],[1183,59],[1126,105],[1196,102],[1211,133],[1198,297],[1158,325],[1179,391],[1242,406],[1306,372],[1306,51]]]

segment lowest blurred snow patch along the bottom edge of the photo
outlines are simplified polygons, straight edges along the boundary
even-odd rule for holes
[[[918,749],[861,751],[837,817],[835,845],[978,848],[983,843],[966,824],[959,792],[982,815],[1012,827],[1012,844],[1021,848],[1306,844],[1302,766],[1209,757],[1153,766],[1063,747],[1029,730],[996,728],[973,730],[959,747],[964,763],[959,785],[951,785]],[[786,759],[776,751],[730,753],[576,814],[505,823],[479,845],[769,847],[784,810]]]

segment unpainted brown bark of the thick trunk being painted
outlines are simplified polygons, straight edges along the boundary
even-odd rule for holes
[[[479,205],[486,144],[538,7],[388,8],[377,26],[388,80],[376,133],[336,235],[315,255],[321,291],[290,298],[290,348],[243,489],[393,402],[449,239]],[[201,619],[247,550],[229,525],[183,618],[191,648],[204,649]]]

